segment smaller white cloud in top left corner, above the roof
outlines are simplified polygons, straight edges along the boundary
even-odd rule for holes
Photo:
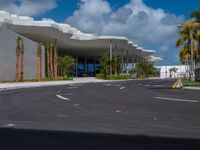
[[[0,0],[0,9],[26,16],[36,16],[56,8],[55,0]]]

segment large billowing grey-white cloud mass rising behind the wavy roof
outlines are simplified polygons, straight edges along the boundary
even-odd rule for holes
[[[166,58],[171,62],[177,62],[177,24],[183,21],[183,16],[151,8],[143,0],[130,0],[116,11],[106,0],[81,0],[79,9],[66,19],[84,32],[126,36],[140,46],[156,49],[161,57],[171,55]]]

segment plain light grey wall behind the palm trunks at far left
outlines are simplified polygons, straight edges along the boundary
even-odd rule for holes
[[[18,34],[0,27],[0,80],[15,80],[16,38]],[[43,50],[43,77],[45,55]],[[37,43],[24,37],[24,77],[37,79]]]

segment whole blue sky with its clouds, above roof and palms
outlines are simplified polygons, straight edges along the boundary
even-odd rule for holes
[[[177,24],[189,19],[199,0],[1,0],[0,9],[37,20],[68,23],[86,33],[126,36],[156,50],[162,65],[179,63]]]

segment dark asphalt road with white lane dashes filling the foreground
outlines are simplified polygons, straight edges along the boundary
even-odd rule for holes
[[[174,82],[0,92],[0,147],[16,149],[20,143],[20,149],[200,149],[200,91],[172,89]]]

